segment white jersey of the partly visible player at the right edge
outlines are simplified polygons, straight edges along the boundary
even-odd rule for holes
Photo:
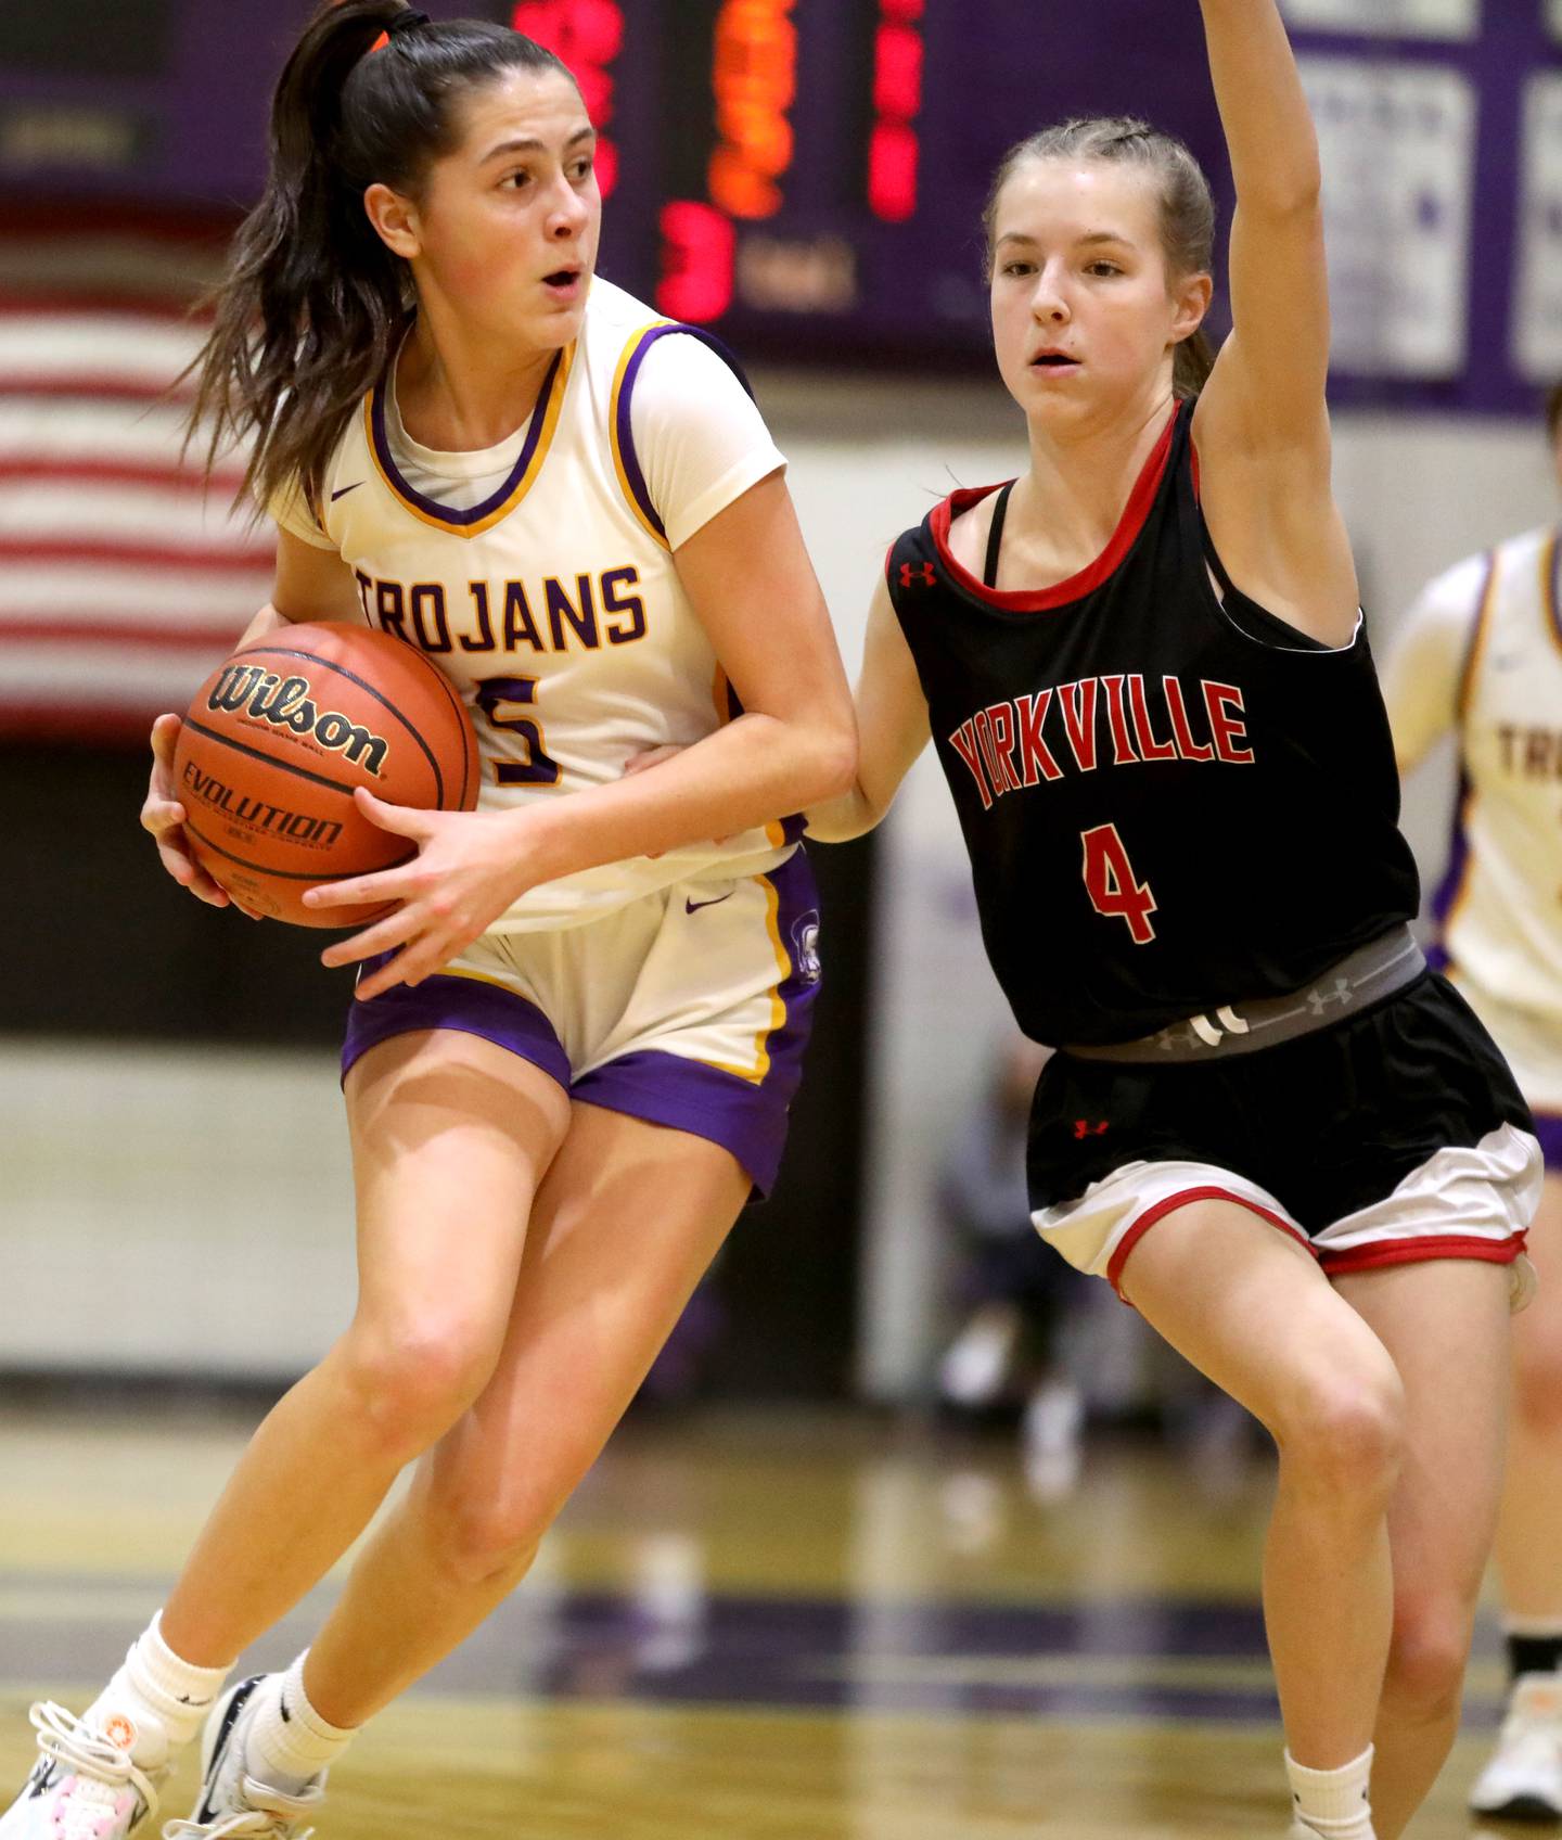
[[[1560,550],[1556,530],[1536,530],[1483,559],[1477,613],[1455,692],[1461,784],[1453,850],[1435,902],[1452,968],[1501,1003],[1558,1029]],[[1435,594],[1439,585],[1428,592]]]

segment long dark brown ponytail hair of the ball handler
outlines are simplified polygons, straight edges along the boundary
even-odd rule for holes
[[[318,502],[331,451],[407,324],[412,270],[368,221],[364,191],[416,197],[458,140],[454,105],[510,68],[569,75],[519,31],[432,24],[403,0],[324,0],[287,59],[265,191],[191,366],[191,434],[206,431],[208,467],[228,443],[254,442],[245,489],[259,504],[294,482]]]

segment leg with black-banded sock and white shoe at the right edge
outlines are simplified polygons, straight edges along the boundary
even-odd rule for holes
[[[1470,1807],[1555,1818],[1562,1816],[1562,1176],[1545,1179],[1529,1255],[1540,1284],[1512,1325],[1512,1417],[1496,1547],[1512,1693]]]

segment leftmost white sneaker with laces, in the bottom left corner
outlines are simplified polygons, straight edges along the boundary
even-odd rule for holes
[[[167,1768],[142,1770],[129,1752],[53,1700],[29,1708],[39,1761],[0,1814],[0,1840],[129,1840],[156,1814]]]

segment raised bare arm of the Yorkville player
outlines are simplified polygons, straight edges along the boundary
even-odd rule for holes
[[[1330,488],[1317,134],[1277,0],[1200,9],[1236,180],[1233,331],[1194,414],[1205,519],[1244,592],[1345,646],[1360,594]]]

